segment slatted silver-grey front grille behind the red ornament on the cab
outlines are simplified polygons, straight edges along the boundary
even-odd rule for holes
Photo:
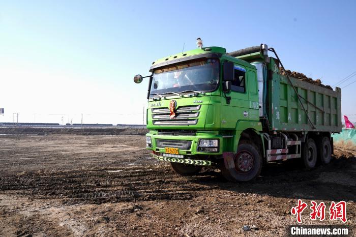
[[[201,105],[181,106],[176,109],[176,117],[170,119],[169,108],[154,108],[152,112],[152,123],[161,126],[189,126],[198,123],[199,109]]]

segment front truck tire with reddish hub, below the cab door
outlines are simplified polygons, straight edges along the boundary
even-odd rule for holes
[[[234,167],[221,164],[221,172],[228,181],[248,182],[256,179],[261,173],[262,157],[254,144],[244,143],[238,147],[238,152],[233,157]]]

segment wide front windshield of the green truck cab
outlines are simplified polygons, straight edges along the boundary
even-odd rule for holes
[[[218,83],[219,61],[216,58],[188,61],[154,70],[150,94],[214,91]]]

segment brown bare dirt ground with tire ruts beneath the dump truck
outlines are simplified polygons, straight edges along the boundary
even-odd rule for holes
[[[268,164],[232,184],[212,169],[176,175],[144,146],[144,136],[0,135],[0,236],[283,236],[299,198],[308,209],[345,200],[355,226],[355,149],[335,147],[331,164],[310,171]],[[309,214],[303,224],[342,224]]]

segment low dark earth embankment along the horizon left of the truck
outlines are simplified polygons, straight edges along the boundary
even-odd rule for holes
[[[36,128],[36,127],[3,127],[0,134],[77,134],[77,135],[144,135],[145,128]]]

